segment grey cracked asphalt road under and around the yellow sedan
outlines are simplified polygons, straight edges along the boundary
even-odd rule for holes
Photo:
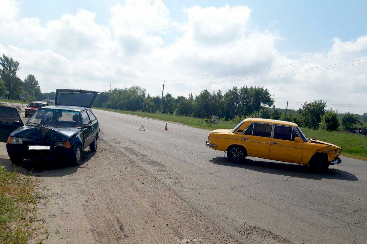
[[[241,243],[367,241],[367,162],[342,157],[323,173],[252,157],[234,164],[206,147],[207,130],[93,111],[101,138]]]

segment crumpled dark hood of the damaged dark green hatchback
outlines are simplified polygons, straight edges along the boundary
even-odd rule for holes
[[[81,131],[81,128],[55,128],[24,125],[13,131],[10,136],[19,138],[30,138],[48,140],[55,142],[65,142],[71,136]]]

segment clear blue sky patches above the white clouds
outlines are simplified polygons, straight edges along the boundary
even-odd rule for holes
[[[75,14],[77,8],[84,8],[97,14],[96,22],[108,26],[110,6],[123,1],[118,0],[64,0],[23,1],[22,17],[37,16],[43,22],[58,18],[62,14]],[[183,22],[187,16],[182,7],[199,5],[201,7],[221,7],[247,5],[252,9],[251,21],[259,29],[277,29],[284,38],[279,50],[297,52],[316,52],[327,49],[333,37],[348,41],[366,34],[367,1],[164,1],[170,10],[171,18]],[[167,38],[170,40],[170,38]]]

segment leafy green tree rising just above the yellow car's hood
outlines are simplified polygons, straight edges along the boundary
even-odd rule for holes
[[[325,113],[326,106],[326,102],[322,100],[302,104],[302,109],[299,112],[304,125],[316,129],[320,124],[321,116]]]

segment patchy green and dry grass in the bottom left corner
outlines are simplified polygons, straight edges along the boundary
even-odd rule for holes
[[[0,243],[25,244],[36,229],[35,183],[0,167]]]

